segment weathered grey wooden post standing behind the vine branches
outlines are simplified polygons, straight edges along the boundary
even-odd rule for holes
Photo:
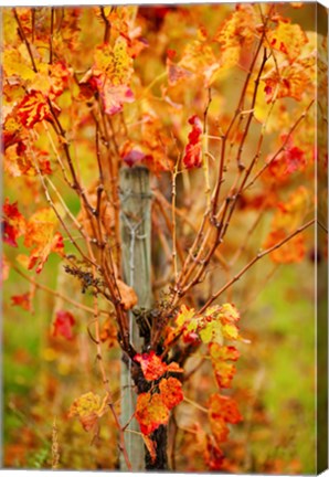
[[[120,170],[120,234],[124,280],[138,297],[138,308],[149,309],[151,299],[151,193],[149,170],[145,167]],[[134,314],[129,312],[130,341],[140,352],[144,340]],[[125,426],[136,406],[136,393],[130,369],[121,363],[121,425]],[[129,432],[132,431],[132,432]],[[132,418],[125,432],[125,443],[134,471],[145,469],[145,446],[139,425]],[[127,470],[121,458],[121,470]]]

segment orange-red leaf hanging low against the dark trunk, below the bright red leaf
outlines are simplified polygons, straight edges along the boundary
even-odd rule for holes
[[[169,410],[160,394],[141,393],[137,396],[135,417],[142,434],[149,435],[161,424],[167,424]]]

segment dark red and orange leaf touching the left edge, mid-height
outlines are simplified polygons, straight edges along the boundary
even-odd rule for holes
[[[9,199],[6,198],[2,206],[3,220],[2,220],[2,237],[3,242],[13,247],[18,246],[17,240],[24,235],[26,230],[26,221],[23,215],[19,212],[18,203],[10,203]]]

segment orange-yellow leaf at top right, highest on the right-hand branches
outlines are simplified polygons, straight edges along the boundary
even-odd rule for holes
[[[268,32],[267,41],[270,47],[284,53],[289,63],[294,63],[308,39],[298,24],[282,19],[277,22],[276,29]]]

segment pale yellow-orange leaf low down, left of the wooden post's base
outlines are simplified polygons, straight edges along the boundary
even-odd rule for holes
[[[108,394],[103,401],[98,394],[88,392],[77,398],[70,407],[68,417],[77,416],[85,431],[95,428],[98,418],[107,411]]]

